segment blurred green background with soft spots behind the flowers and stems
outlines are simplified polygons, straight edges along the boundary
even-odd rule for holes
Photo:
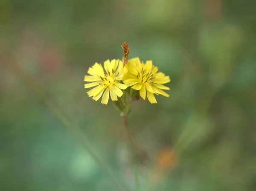
[[[127,41],[129,58],[152,60],[172,80],[169,98],[132,103],[131,132],[149,158],[141,188],[255,191],[255,8],[255,0],[0,0],[0,190],[119,190],[12,64],[134,190],[122,118],[89,98],[83,81],[95,62],[121,59]]]

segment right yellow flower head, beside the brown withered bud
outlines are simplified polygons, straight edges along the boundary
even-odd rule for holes
[[[170,82],[169,76],[162,72],[157,72],[158,68],[152,65],[152,61],[146,61],[144,64],[139,58],[133,58],[125,65],[128,72],[123,77],[123,82],[127,86],[132,86],[134,90],[140,90],[140,96],[145,100],[146,94],[151,104],[156,104],[157,100],[154,94],[160,94],[169,97],[163,90],[170,90],[164,86]]]

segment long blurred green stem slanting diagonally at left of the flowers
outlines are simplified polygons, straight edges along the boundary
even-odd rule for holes
[[[73,122],[69,116],[67,116],[61,109],[58,107],[58,104],[53,100],[50,95],[41,88],[35,79],[30,77],[26,72],[20,69],[17,64],[14,64],[13,61],[3,63],[5,67],[9,68],[24,84],[26,84],[29,89],[35,93],[47,107],[52,111],[52,113],[68,128],[70,131],[79,139],[84,148],[87,149],[88,153],[93,157],[93,159],[99,164],[99,166],[104,170],[113,180],[113,183],[120,188],[121,191],[129,191],[121,179],[113,172],[113,170],[105,163],[102,157],[96,154],[93,146],[90,144],[87,136],[80,130],[79,126]]]

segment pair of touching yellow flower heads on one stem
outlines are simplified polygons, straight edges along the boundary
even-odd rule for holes
[[[87,73],[90,75],[85,75],[84,81],[91,83],[84,84],[84,88],[94,87],[87,94],[95,101],[98,101],[103,94],[102,104],[108,104],[109,95],[113,101],[117,101],[118,97],[123,95],[122,90],[129,86],[139,90],[144,100],[147,95],[151,104],[157,103],[154,94],[169,97],[163,90],[170,88],[163,84],[170,82],[170,78],[158,72],[152,61],[143,63],[139,58],[132,58],[124,66],[120,60],[107,60],[104,62],[104,68],[102,64],[95,63]]]

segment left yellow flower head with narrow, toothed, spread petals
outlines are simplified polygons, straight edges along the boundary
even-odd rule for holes
[[[104,69],[98,63],[90,67],[87,72],[90,75],[85,75],[84,81],[92,83],[84,84],[84,88],[97,86],[87,92],[88,96],[93,97],[95,101],[98,101],[105,91],[101,103],[108,104],[109,94],[113,101],[117,101],[117,97],[123,95],[122,90],[127,88],[126,85],[120,83],[127,69],[123,67],[122,61],[119,60],[105,61]]]

